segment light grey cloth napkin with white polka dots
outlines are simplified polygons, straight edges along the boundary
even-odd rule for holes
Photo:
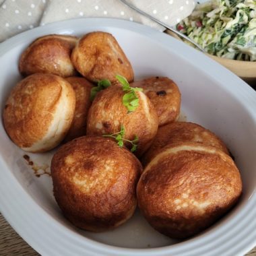
[[[174,26],[195,7],[194,0],[129,0],[165,24]],[[0,0],[0,42],[36,26],[83,17],[111,17],[130,20],[163,31],[148,18],[120,0]]]

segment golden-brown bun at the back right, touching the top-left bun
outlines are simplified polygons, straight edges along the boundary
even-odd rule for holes
[[[80,38],[73,49],[73,65],[92,82],[108,79],[115,82],[116,75],[133,81],[133,68],[112,34],[92,32]]]

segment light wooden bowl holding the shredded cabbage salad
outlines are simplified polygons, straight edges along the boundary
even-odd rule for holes
[[[167,34],[181,40],[177,34],[174,34],[170,30],[166,30]],[[256,62],[255,61],[235,61],[233,59],[224,59],[214,55],[207,54],[210,58],[214,59],[236,75],[241,77],[245,82],[250,84],[253,88],[256,88]]]

